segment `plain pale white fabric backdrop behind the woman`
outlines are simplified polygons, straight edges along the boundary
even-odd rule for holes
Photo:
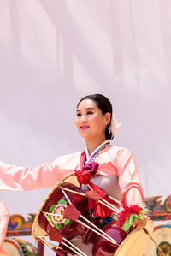
[[[1,160],[33,167],[83,150],[76,104],[103,93],[122,123],[113,144],[133,152],[145,196],[168,196],[170,12],[170,0],[0,0]],[[0,200],[27,214],[49,191]]]

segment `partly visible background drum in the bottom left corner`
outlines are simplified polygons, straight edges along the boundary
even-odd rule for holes
[[[3,242],[3,250],[10,256],[37,256],[38,249],[30,242],[17,238],[5,238]]]

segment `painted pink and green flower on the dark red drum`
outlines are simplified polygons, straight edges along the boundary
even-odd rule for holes
[[[50,207],[50,213],[48,215],[50,222],[53,223],[54,227],[56,229],[61,229],[62,225],[67,225],[71,222],[70,219],[64,218],[63,214],[65,209],[67,208],[67,201],[64,199],[61,199],[57,202],[57,205],[52,205]]]

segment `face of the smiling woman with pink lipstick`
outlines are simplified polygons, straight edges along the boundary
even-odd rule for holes
[[[110,113],[103,115],[102,110],[91,99],[84,99],[80,102],[75,124],[80,135],[85,140],[99,139],[105,140],[105,129],[110,122]]]

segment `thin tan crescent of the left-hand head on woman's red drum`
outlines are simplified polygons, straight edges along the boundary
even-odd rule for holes
[[[68,175],[68,176],[65,176],[60,182],[58,182],[56,184],[56,186],[52,189],[52,191],[50,192],[50,194],[48,195],[48,197],[44,200],[44,203],[43,205],[41,206],[41,208],[39,209],[35,219],[34,219],[34,222],[33,222],[33,225],[32,225],[32,237],[35,239],[35,240],[38,240],[38,236],[37,235],[42,235],[42,236],[47,236],[48,233],[46,231],[44,231],[44,229],[42,229],[40,227],[40,225],[38,224],[38,217],[40,215],[40,212],[42,211],[42,208],[44,207],[46,201],[50,198],[50,195],[52,193],[54,193],[54,191],[56,190],[56,188],[58,188],[60,185],[62,185],[62,183],[64,182],[69,182],[71,184],[73,184],[74,186],[80,188],[80,183],[77,181],[77,177],[75,176],[74,173]]]

